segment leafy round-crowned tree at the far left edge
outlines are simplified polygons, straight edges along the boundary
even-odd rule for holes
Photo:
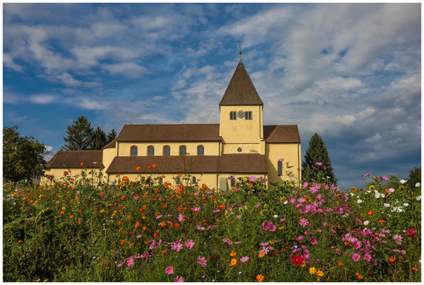
[[[6,181],[31,181],[34,175],[43,175],[46,164],[45,145],[33,137],[21,138],[18,127],[3,128],[3,177]]]

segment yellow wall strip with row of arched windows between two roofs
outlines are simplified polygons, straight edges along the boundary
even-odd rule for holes
[[[197,155],[197,146],[203,145],[204,155],[219,155],[219,142],[118,142],[119,156],[129,156],[132,145],[137,146],[139,156],[147,156],[147,147],[154,146],[154,155],[164,155],[164,146],[171,147],[171,155],[179,155],[180,145],[185,145],[190,155]]]

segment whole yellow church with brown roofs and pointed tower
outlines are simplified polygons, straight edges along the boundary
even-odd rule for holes
[[[174,184],[182,182],[179,174],[185,173],[191,183],[225,191],[232,189],[240,176],[282,182],[290,171],[299,185],[297,125],[263,125],[263,109],[240,60],[219,103],[219,123],[124,125],[102,150],[56,152],[46,164],[46,175],[58,179],[104,167],[104,180],[122,180],[124,176],[137,180],[140,175],[151,175]]]

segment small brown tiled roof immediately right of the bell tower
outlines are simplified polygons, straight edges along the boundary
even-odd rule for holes
[[[297,125],[264,125],[265,142],[300,142]]]

